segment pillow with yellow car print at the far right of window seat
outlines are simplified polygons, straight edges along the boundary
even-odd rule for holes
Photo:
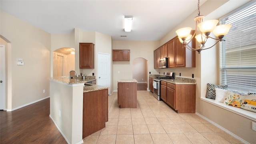
[[[256,112],[256,95],[250,94],[245,96],[244,103],[242,104],[241,108]]]

